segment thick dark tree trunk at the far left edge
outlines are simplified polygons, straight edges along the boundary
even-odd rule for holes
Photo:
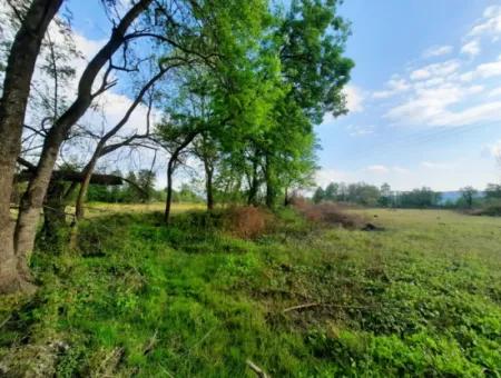
[[[10,196],[35,63],[47,27],[61,3],[62,0],[31,2],[7,62],[0,101],[0,292],[31,289],[28,267],[22,267],[21,271],[17,269]]]

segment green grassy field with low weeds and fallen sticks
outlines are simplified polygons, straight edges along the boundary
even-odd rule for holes
[[[90,219],[80,251],[33,257],[36,298],[2,299],[0,368],[254,377],[250,360],[272,377],[499,377],[501,219],[355,211],[384,230],[292,210],[256,240],[202,212],[169,228],[155,212]]]

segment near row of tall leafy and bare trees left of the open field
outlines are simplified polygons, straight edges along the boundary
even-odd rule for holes
[[[76,235],[94,185],[122,182],[97,167],[120,169],[134,156],[151,157],[153,167],[163,157],[166,223],[183,166],[202,166],[208,210],[218,198],[273,208],[312,183],[314,126],[347,111],[354,63],[344,56],[350,27],[340,1],[101,1],[109,37],[94,57],[78,51],[63,2],[12,0],[0,14],[0,292],[32,287],[41,215],[42,229],[67,227],[73,202]],[[130,101],[109,125],[102,115],[114,88]],[[131,127],[137,109],[145,121]],[[68,160],[78,169],[62,171]],[[130,185],[134,196],[150,196],[126,182],[110,192],[124,190],[125,200]],[[11,203],[16,188],[23,190]]]

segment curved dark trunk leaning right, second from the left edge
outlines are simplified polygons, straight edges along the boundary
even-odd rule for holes
[[[99,50],[85,69],[79,84],[78,96],[68,110],[55,122],[49,130],[40,156],[39,163],[28,189],[21,199],[18,221],[14,232],[16,252],[21,261],[26,261],[35,243],[37,225],[43,205],[47,187],[56,165],[59,148],[71,127],[87,111],[92,101],[92,83],[101,68],[120,48],[125,41],[125,33],[134,20],[149,6],[153,0],[141,0],[136,3],[114,28],[108,42]]]

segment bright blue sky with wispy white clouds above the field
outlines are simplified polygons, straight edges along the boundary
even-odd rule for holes
[[[71,0],[69,9],[90,54],[109,33],[102,8]],[[352,22],[346,53],[356,67],[350,113],[317,127],[318,183],[454,190],[498,182],[501,1],[345,0],[340,11]]]

